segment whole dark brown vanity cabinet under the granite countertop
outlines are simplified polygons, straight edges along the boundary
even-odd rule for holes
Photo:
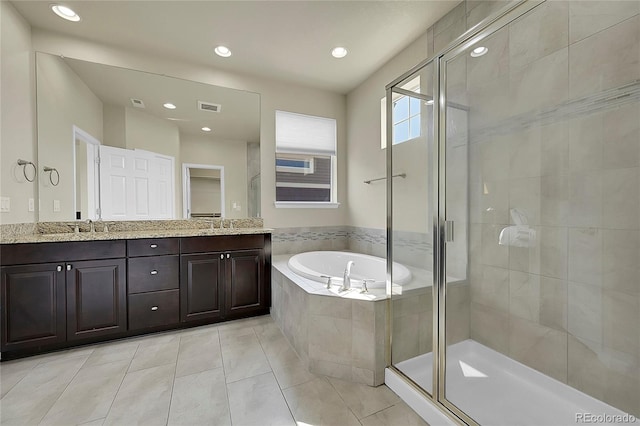
[[[269,313],[271,235],[3,244],[2,358]]]

